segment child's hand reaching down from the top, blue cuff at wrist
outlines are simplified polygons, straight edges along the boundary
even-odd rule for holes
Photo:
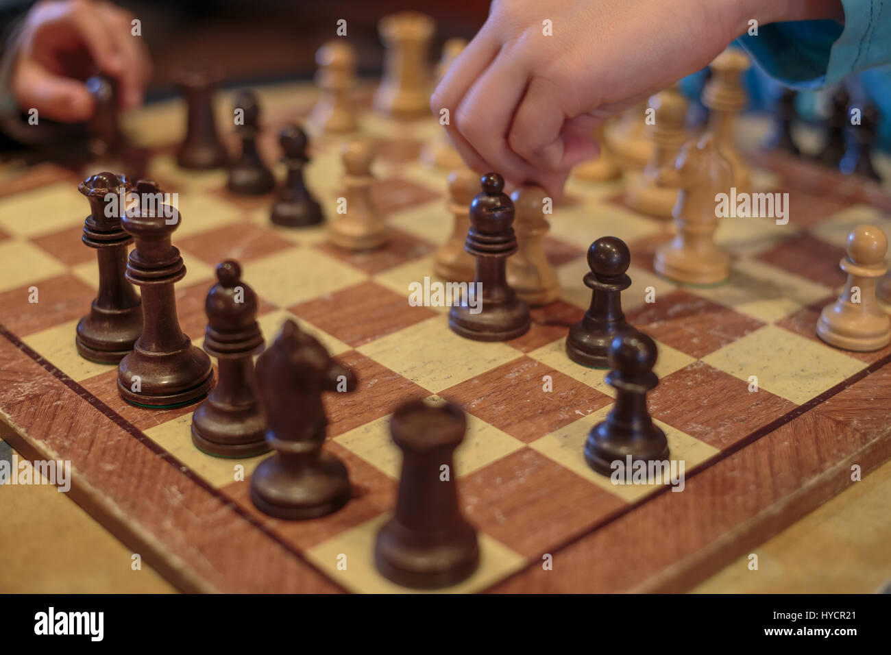
[[[559,196],[569,168],[598,151],[597,123],[706,66],[749,19],[771,20],[772,4],[783,2],[494,0],[430,107],[448,108],[446,128],[470,168]]]

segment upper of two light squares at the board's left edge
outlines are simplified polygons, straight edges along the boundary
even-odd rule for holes
[[[36,237],[72,225],[83,228],[89,210],[77,184],[57,182],[0,198],[0,227],[13,236]]]

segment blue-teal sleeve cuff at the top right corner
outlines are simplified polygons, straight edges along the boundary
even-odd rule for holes
[[[787,86],[812,89],[891,63],[891,0],[841,0],[834,20],[772,23],[739,43],[764,72]]]

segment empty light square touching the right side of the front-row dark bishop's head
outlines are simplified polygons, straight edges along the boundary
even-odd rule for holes
[[[254,291],[279,307],[344,289],[367,275],[318,250],[283,250],[242,267]]]

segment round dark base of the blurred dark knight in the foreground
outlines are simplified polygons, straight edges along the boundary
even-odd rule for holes
[[[260,512],[286,520],[316,519],[337,512],[351,495],[347,467],[323,451],[317,458],[302,456],[300,444],[277,440],[276,453],[257,465],[250,476],[250,500]],[[301,463],[288,463],[288,448]]]

